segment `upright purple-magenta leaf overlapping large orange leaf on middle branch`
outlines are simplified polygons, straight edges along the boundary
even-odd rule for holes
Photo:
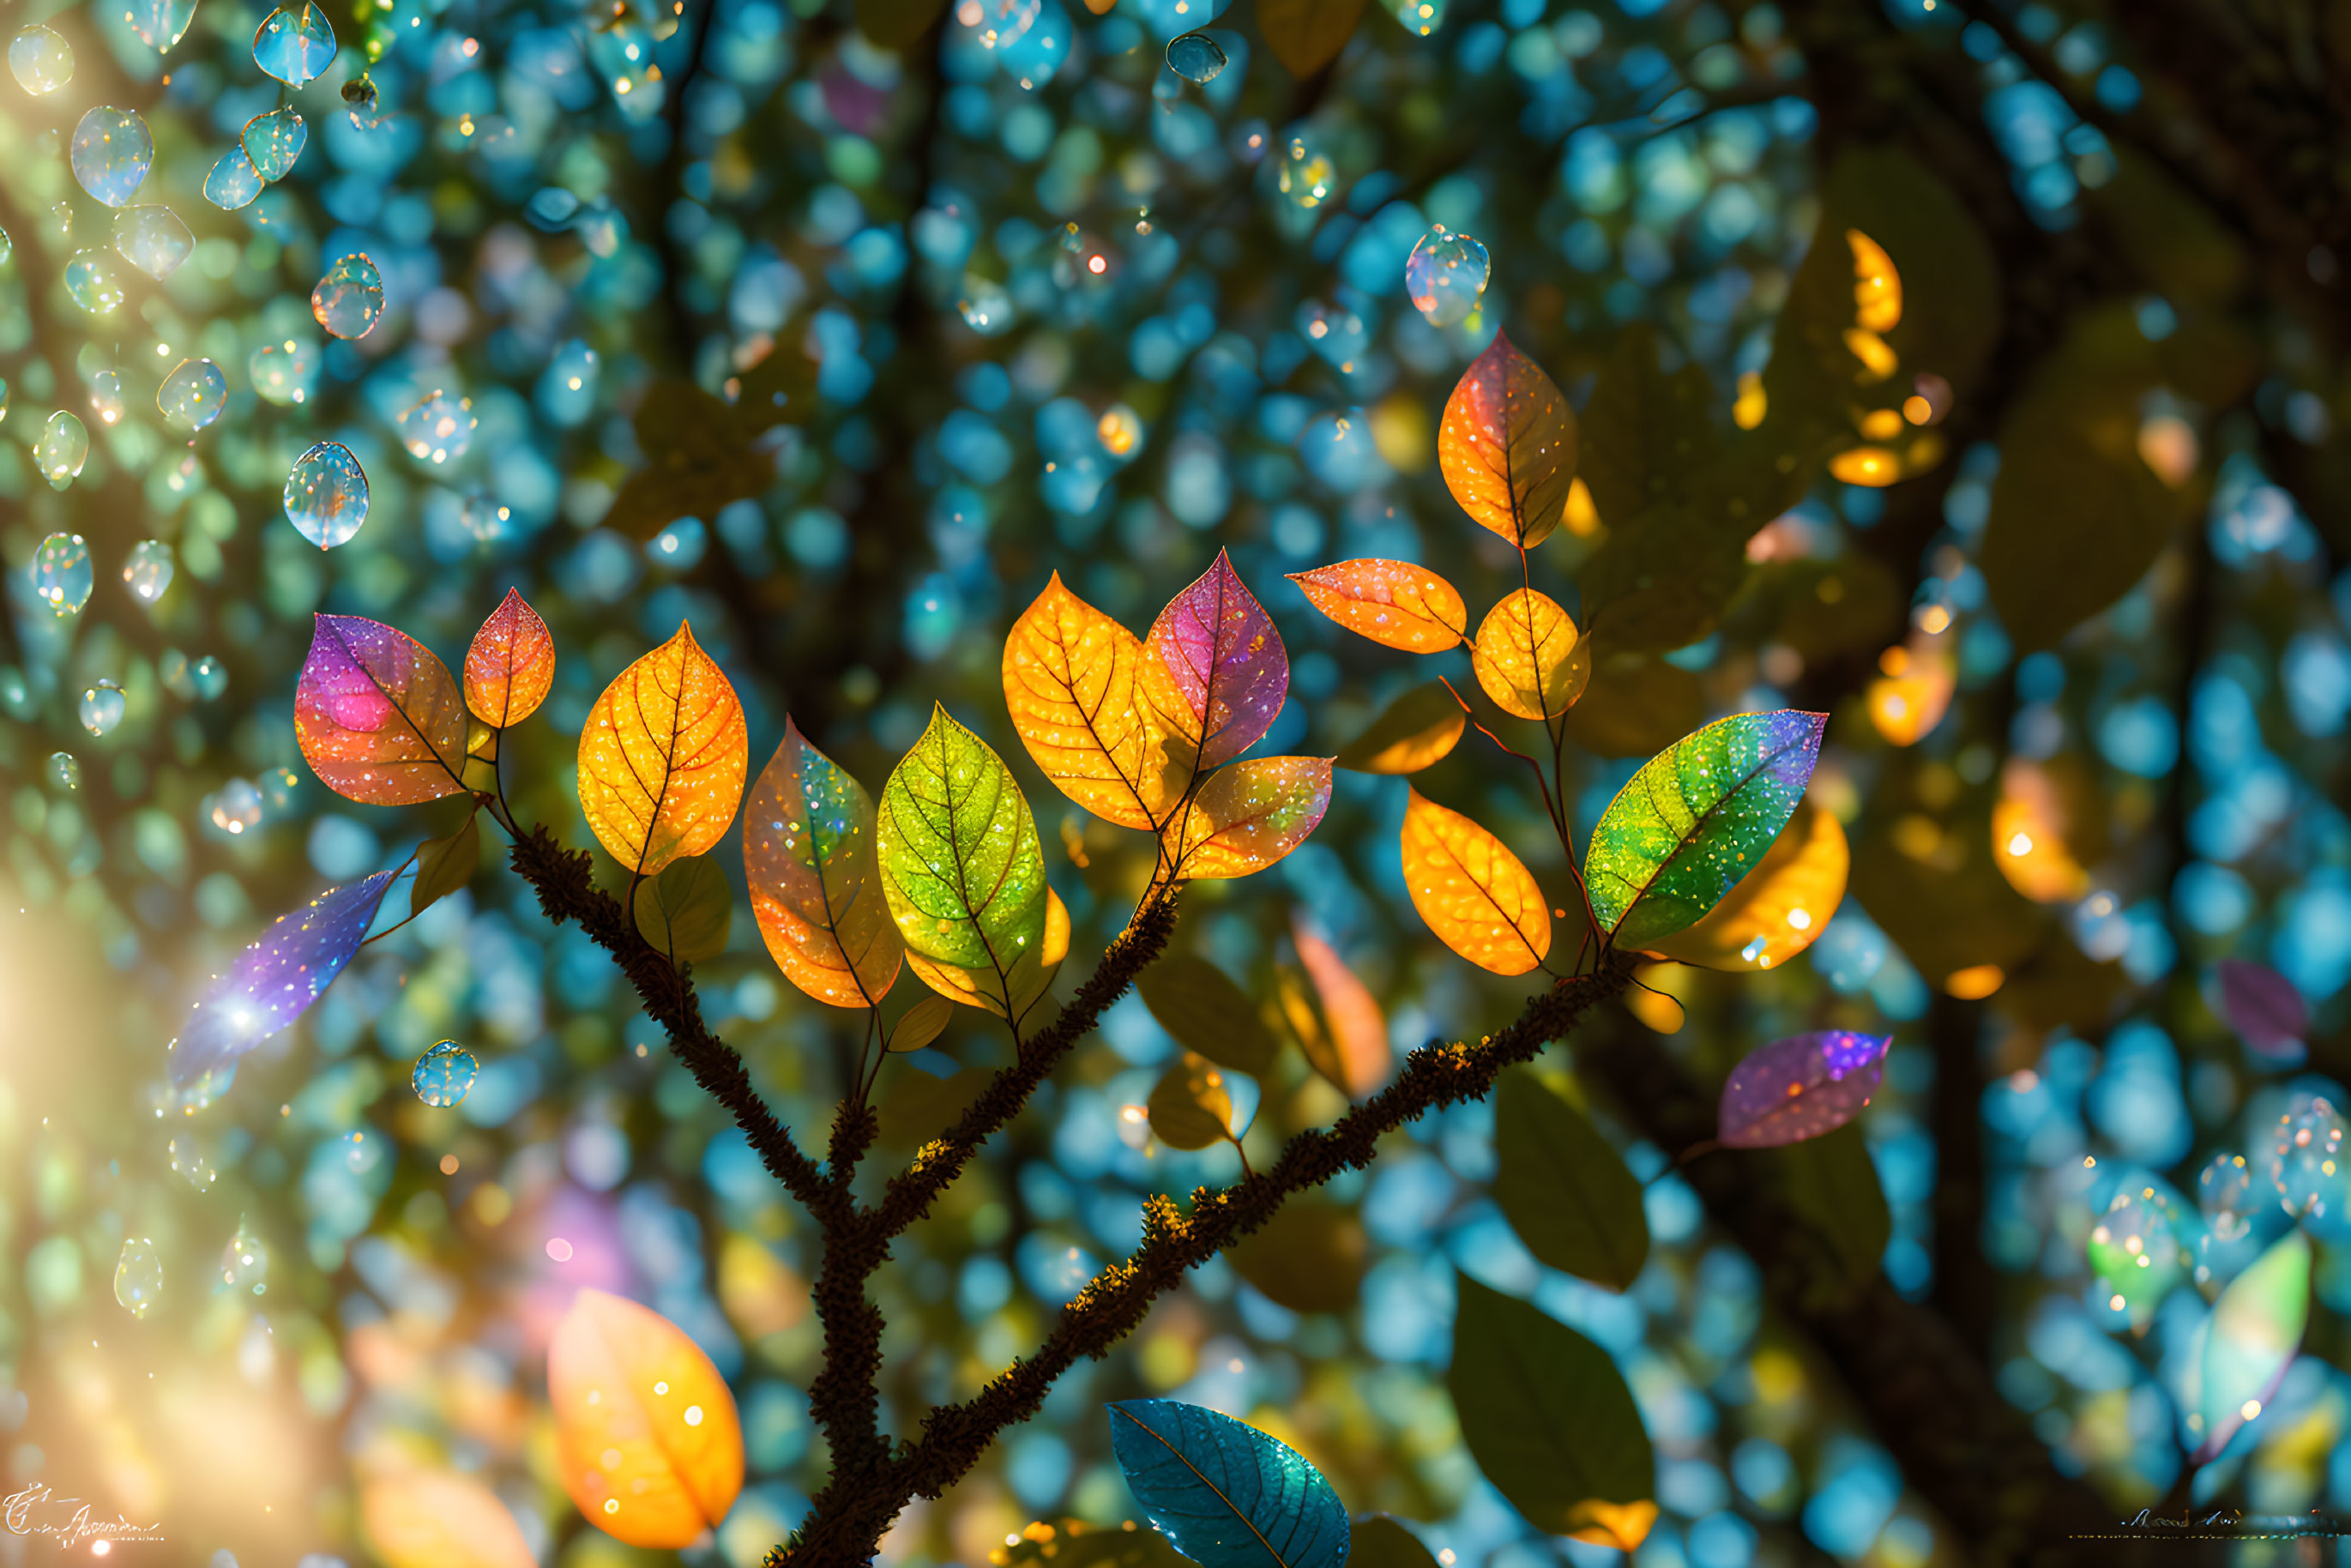
[[[1143,696],[1178,766],[1213,769],[1246,752],[1281,715],[1288,689],[1281,632],[1218,550],[1143,639]]]

